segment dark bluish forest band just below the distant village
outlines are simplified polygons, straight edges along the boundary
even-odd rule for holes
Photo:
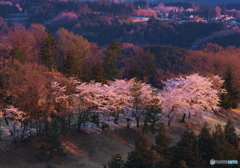
[[[84,19],[86,18],[84,17]],[[95,19],[97,19],[96,16],[93,17],[93,20]],[[80,25],[74,27],[73,32],[99,45],[106,45],[112,40],[118,40],[134,45],[158,44],[184,48],[190,48],[198,38],[226,28],[224,23],[166,24],[154,18],[151,18],[147,24],[121,23],[120,20],[114,19],[110,21],[109,25],[99,20],[94,23],[89,20],[82,21]],[[54,30],[56,25],[50,24],[47,27]],[[67,28],[69,28],[69,25],[67,25]]]

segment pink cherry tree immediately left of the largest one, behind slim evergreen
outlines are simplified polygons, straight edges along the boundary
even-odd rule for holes
[[[134,78],[111,82],[107,93],[114,100],[113,112],[117,114],[117,117],[122,112],[128,128],[134,119],[136,119],[137,127],[139,127],[139,120],[143,116],[146,107],[153,104],[154,100],[161,99],[161,96],[151,85],[136,81]],[[158,101],[158,103],[160,102]]]

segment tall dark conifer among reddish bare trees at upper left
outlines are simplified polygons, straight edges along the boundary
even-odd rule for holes
[[[55,58],[56,52],[56,39],[47,32],[47,35],[43,41],[43,45],[40,49],[40,55],[42,63],[51,71],[56,67]]]

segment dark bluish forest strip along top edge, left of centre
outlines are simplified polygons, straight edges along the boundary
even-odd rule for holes
[[[100,15],[108,16],[129,16],[132,14],[131,3],[111,3],[107,1],[99,2],[75,2],[75,1],[45,1],[44,3],[34,3],[29,0],[22,1],[23,9],[32,14],[31,22],[43,23],[53,19],[61,12],[75,12],[79,16],[86,13],[97,12]],[[33,5],[40,5],[40,9],[32,8]]]

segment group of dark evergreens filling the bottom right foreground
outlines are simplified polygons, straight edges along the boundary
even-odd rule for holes
[[[155,137],[155,143],[148,144],[147,137],[140,134],[135,141],[135,149],[128,153],[124,162],[120,154],[112,156],[105,168],[210,168],[219,167],[210,164],[210,160],[238,160],[239,150],[237,134],[230,120],[224,126],[216,125],[215,131],[205,123],[199,135],[190,128],[181,134],[176,144],[171,143],[162,125]],[[221,167],[237,167],[237,165],[221,165]]]

